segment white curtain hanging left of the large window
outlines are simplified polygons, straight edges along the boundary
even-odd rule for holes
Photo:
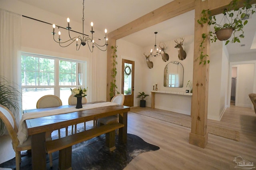
[[[18,84],[18,90],[20,90],[21,83],[21,20],[22,16],[20,14],[0,9],[0,75]],[[20,113],[14,113],[14,115],[18,125],[21,111]]]

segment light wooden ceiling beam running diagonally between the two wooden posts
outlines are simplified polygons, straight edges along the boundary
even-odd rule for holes
[[[194,0],[174,0],[156,10],[110,32],[108,38],[118,40],[170,18],[194,10]]]

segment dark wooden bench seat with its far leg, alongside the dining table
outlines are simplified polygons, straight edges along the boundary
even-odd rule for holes
[[[74,144],[89,140],[101,134],[106,134],[106,146],[110,151],[116,148],[115,146],[115,130],[124,127],[124,124],[113,123],[109,125],[102,125],[100,127],[92,128],[83,132],[58,138],[56,140],[46,141],[46,150],[52,153],[58,150],[68,148]],[[72,147],[71,147],[72,148]]]

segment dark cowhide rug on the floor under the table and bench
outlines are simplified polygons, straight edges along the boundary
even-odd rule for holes
[[[159,147],[145,142],[139,136],[127,134],[127,144],[118,141],[112,152],[105,147],[105,134],[72,146],[73,170],[122,170],[140,153],[158,150]],[[22,152],[21,170],[32,170],[32,158],[28,152]],[[50,168],[49,157],[46,155],[48,170],[58,170],[58,152],[52,153],[53,168]],[[0,164],[0,168],[15,167],[15,158]]]

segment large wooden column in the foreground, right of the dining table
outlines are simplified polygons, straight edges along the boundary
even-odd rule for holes
[[[208,9],[208,1],[195,0],[195,37],[194,37],[194,65],[193,65],[193,95],[191,104],[191,132],[189,143],[204,148],[208,141],[207,110],[208,110],[208,81],[209,64],[199,65],[199,46],[202,34],[209,31],[208,24],[200,25],[197,20],[201,17],[203,9]],[[209,55],[210,41],[204,43],[204,54]],[[210,57],[210,56],[209,56]]]

